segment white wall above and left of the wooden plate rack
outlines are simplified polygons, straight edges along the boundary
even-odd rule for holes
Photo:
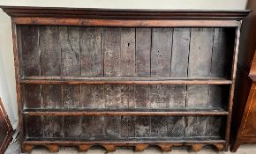
[[[169,10],[240,10],[245,4],[246,0],[0,0],[0,5]],[[18,116],[11,19],[3,11],[0,11],[0,97],[15,125]]]

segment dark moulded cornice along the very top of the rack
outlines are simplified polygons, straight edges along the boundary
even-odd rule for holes
[[[0,6],[11,17],[109,19],[242,19],[248,10],[114,10],[28,6]]]

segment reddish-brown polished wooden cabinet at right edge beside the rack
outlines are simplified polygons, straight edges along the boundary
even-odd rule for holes
[[[230,150],[236,152],[241,144],[255,141],[255,1],[247,2],[252,13],[241,27],[241,39],[238,53],[236,88],[231,125]]]

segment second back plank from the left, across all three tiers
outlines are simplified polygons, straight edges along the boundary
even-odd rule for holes
[[[42,76],[60,76],[61,75],[61,48],[59,46],[59,27],[41,26],[39,27],[39,49],[41,52],[41,75]],[[53,85],[42,85],[43,106],[54,108],[62,106],[61,89]],[[56,92],[56,93],[52,93]],[[62,136],[63,121],[52,116],[44,116],[43,133],[45,137]],[[60,132],[59,134],[57,132]]]

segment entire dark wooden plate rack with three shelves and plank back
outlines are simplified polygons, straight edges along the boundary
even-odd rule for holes
[[[248,11],[46,10],[4,7],[13,15],[23,151],[229,144],[238,29]],[[22,43],[31,62],[39,57],[39,74],[22,63]]]

